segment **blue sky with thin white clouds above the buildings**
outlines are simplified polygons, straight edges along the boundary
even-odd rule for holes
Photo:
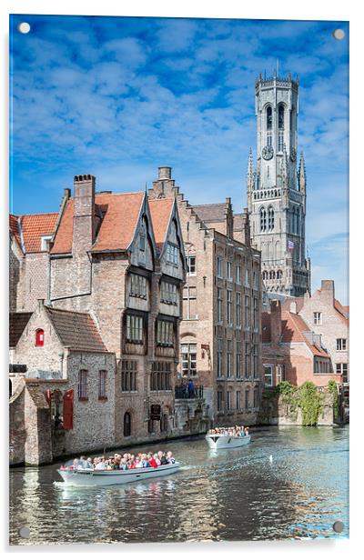
[[[347,23],[14,15],[11,27],[17,214],[57,211],[76,174],[127,192],[151,185],[158,165],[173,167],[191,203],[231,196],[241,211],[255,79],[277,59],[280,75],[298,73],[312,287],[332,278],[348,303]]]

